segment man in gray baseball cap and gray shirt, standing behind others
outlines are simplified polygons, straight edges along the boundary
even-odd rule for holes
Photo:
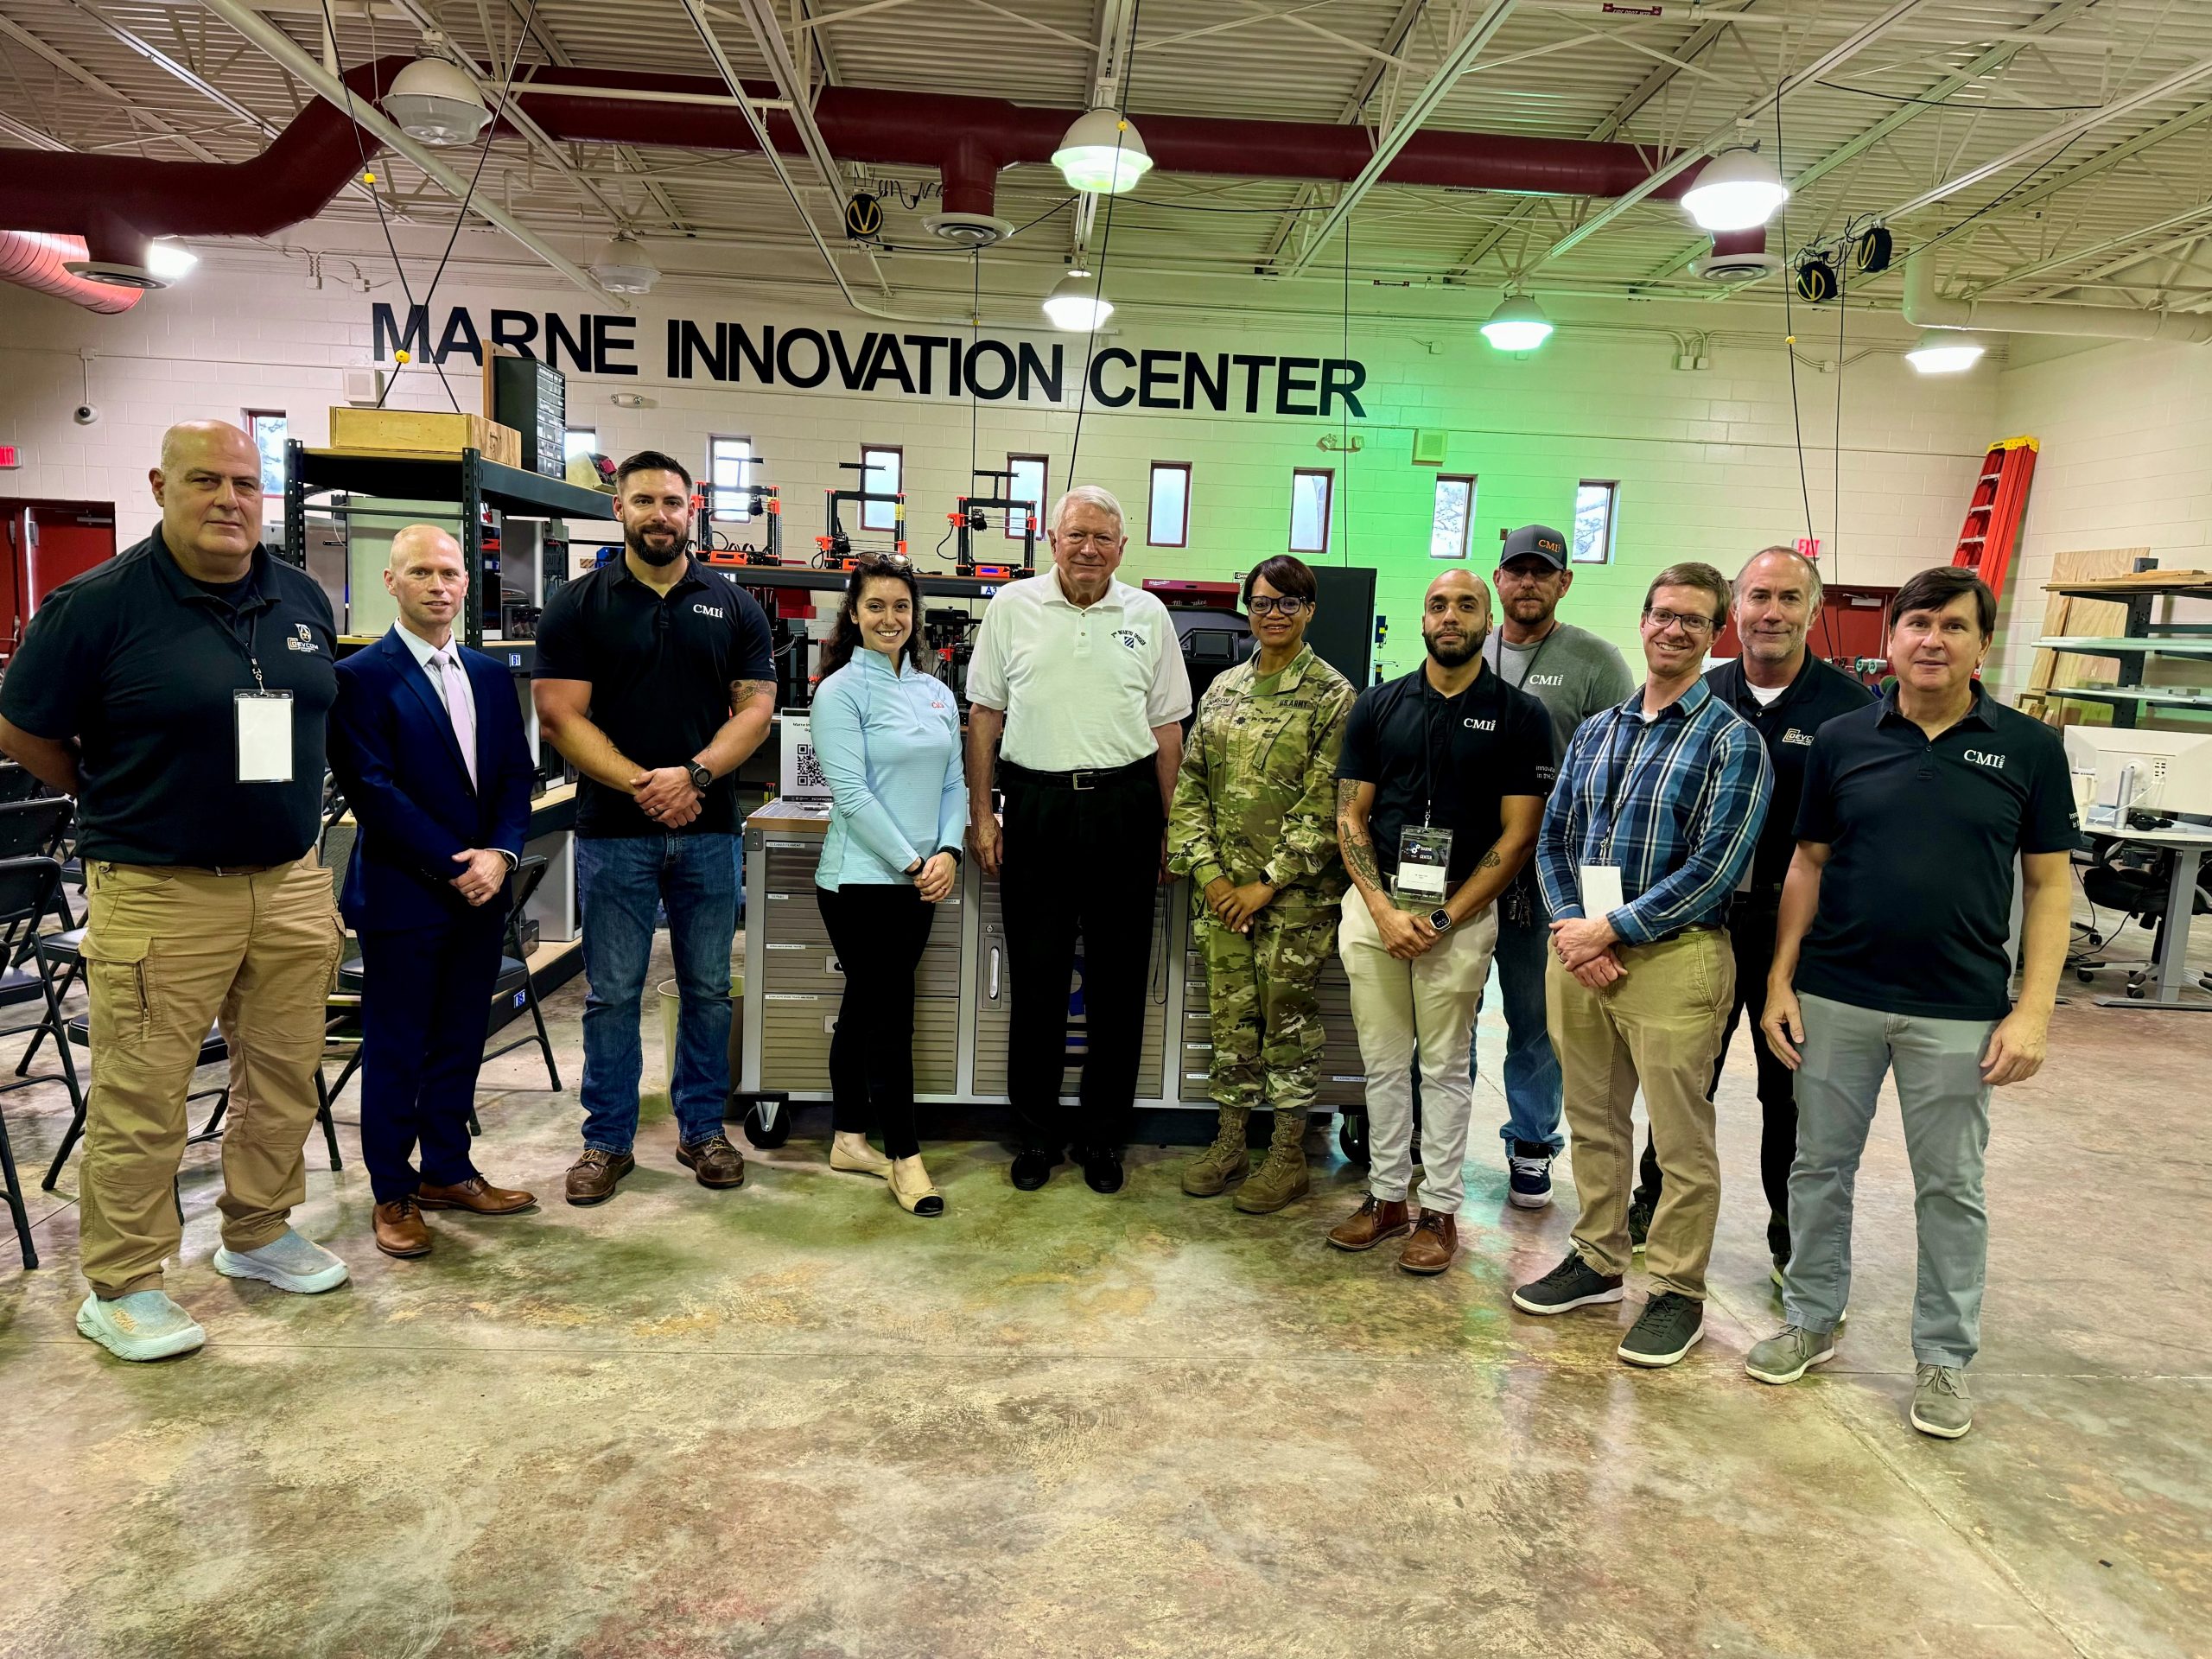
[[[1637,677],[1621,653],[1588,628],[1559,622],[1559,599],[1575,584],[1566,538],[1548,524],[1506,531],[1498,549],[1498,626],[1482,657],[1500,679],[1551,714],[1553,761],[1590,714],[1628,699]],[[1506,1004],[1506,1197],[1524,1210],[1551,1203],[1551,1161],[1559,1137],[1559,1060],[1544,1022],[1544,956],[1551,927],[1535,876],[1522,869],[1498,900],[1498,987]],[[1473,1062],[1469,1062],[1473,1064]]]

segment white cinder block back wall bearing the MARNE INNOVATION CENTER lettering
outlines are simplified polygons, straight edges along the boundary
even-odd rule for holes
[[[321,445],[325,409],[343,400],[345,367],[372,361],[372,301],[398,303],[387,285],[374,296],[312,292],[296,265],[250,270],[208,261],[175,290],[137,310],[102,319],[60,301],[0,288],[0,440],[18,442],[24,465],[0,478],[0,493],[113,500],[124,542],[155,520],[146,467],[161,429],[181,418],[237,420],[246,407],[285,409],[292,434]],[[568,288],[445,288],[434,319],[460,303],[487,327],[493,305],[560,310],[588,305]],[[1562,307],[1564,310],[1564,307]],[[763,478],[783,491],[785,546],[812,551],[821,531],[821,491],[849,482],[838,462],[863,442],[902,445],[909,540],[927,562],[945,513],[962,493],[971,442],[978,465],[1004,467],[1009,451],[1051,456],[1051,489],[1068,482],[1075,440],[1075,387],[1082,336],[1029,338],[1068,347],[1062,407],[982,403],[898,392],[852,394],[836,376],[812,392],[759,385],[670,383],[661,332],[668,316],[841,327],[856,343],[869,319],[834,305],[732,296],[730,290],[659,292],[639,305],[637,376],[571,374],[571,422],[593,425],[599,447],[622,456],[668,449],[695,469],[708,434],[741,434],[768,456]],[[1688,319],[1688,321],[1686,321]],[[1279,319],[1241,314],[1146,316],[1099,345],[1130,352],[1267,352],[1340,356],[1336,316]],[[1730,323],[1741,330],[1710,345],[1710,369],[1677,369],[1668,327]],[[1336,420],[1312,416],[1223,416],[1212,409],[1102,409],[1082,416],[1079,476],[1121,495],[1133,542],[1124,575],[1230,577],[1287,546],[1290,473],[1336,467],[1329,555],[1378,568],[1378,608],[1389,617],[1387,666],[1418,661],[1420,591],[1444,568],[1429,560],[1429,518],[1438,469],[1411,465],[1416,427],[1449,431],[1442,471],[1480,478],[1471,568],[1489,573],[1502,529],[1531,520],[1568,526],[1582,478],[1619,480],[1617,553],[1610,566],[1582,566],[1566,615],[1599,628],[1635,653],[1644,588],[1661,566],[1701,557],[1732,573],[1770,542],[1805,533],[1805,491],[1832,582],[1896,584],[1924,564],[1947,562],[1964,515],[1975,465],[2000,436],[1995,374],[1949,380],[1916,376],[1893,352],[1867,352],[1847,367],[1840,431],[1840,513],[1836,498],[1836,380],[1798,369],[1805,484],[1798,478],[1787,358],[1778,319],[1761,310],[1719,314],[1637,305],[1590,312],[1584,325],[1562,319],[1551,343],[1522,361],[1491,352],[1464,321],[1352,319],[1352,356],[1367,365],[1360,392],[1365,438],[1358,456],[1323,453],[1316,442]],[[949,332],[949,330],[947,330]],[[1761,338],[1765,336],[1765,338]],[[1902,336],[1900,336],[1902,338]],[[80,358],[91,352],[91,361]],[[942,361],[942,358],[940,358]],[[478,405],[478,372],[467,356],[447,363],[465,409]],[[71,425],[86,396],[95,427]],[[1263,383],[1265,387],[1267,383]],[[622,409],[617,392],[653,407]],[[396,407],[447,407],[425,369],[392,398]],[[1188,549],[1144,546],[1148,462],[1181,460],[1192,471]],[[1840,526],[1838,526],[1840,518]]]

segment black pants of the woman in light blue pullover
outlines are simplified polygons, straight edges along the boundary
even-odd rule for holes
[[[883,1130],[889,1157],[922,1150],[914,1133],[914,969],[938,907],[914,883],[814,889],[823,927],[845,969],[845,1000],[830,1037],[832,1124]]]

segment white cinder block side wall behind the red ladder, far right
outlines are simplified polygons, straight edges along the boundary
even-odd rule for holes
[[[2015,341],[2011,356],[1997,376],[1997,422],[2006,436],[2037,438],[2042,451],[2000,611],[2006,697],[2028,681],[2059,553],[2148,546],[2161,568],[2212,571],[2208,347]],[[2212,619],[2205,606],[2177,615]]]

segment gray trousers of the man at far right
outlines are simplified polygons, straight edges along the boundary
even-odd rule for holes
[[[1805,1046],[1796,1073],[1798,1150],[1790,1168],[1783,1314],[1801,1329],[1832,1332],[1851,1301],[1851,1183],[1882,1075],[1893,1068],[1920,1232],[1913,1358],[1964,1367],[1982,1340],[1989,1263],[1982,1051],[1997,1022],[1922,1020],[1816,995],[1801,995],[1798,1004]]]

